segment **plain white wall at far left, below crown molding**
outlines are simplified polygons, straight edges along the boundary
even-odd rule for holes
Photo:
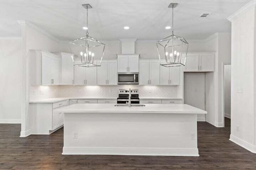
[[[0,38],[0,123],[21,122],[21,38]]]

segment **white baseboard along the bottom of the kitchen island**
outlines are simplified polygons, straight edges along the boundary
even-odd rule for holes
[[[141,155],[141,156],[199,156],[198,149],[182,148],[114,148],[114,147],[63,147],[62,154],[78,155]]]

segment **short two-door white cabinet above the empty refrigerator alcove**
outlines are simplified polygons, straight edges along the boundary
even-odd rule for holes
[[[214,54],[213,53],[193,53],[188,54],[184,72],[213,72]]]

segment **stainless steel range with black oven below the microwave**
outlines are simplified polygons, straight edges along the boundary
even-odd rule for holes
[[[118,90],[118,104],[126,104],[129,102],[129,90]],[[131,104],[139,104],[139,90],[131,90]]]

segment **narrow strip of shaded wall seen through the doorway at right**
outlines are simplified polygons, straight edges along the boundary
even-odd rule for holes
[[[224,65],[224,113],[230,118],[231,109],[231,64]]]

